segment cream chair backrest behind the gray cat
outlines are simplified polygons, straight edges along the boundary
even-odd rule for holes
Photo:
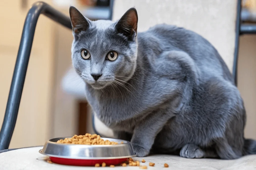
[[[205,37],[218,50],[232,72],[237,1],[116,0],[113,20],[118,20],[131,7],[138,12],[138,32],[160,23],[192,30]],[[94,124],[99,134],[113,135],[97,117],[94,117]]]

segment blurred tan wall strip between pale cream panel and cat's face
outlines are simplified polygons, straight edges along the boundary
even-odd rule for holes
[[[72,31],[58,25],[56,33],[55,51],[55,82],[54,106],[52,116],[51,137],[67,137],[77,133],[78,128],[78,102],[74,96],[63,92],[61,82],[69,67],[71,67]]]

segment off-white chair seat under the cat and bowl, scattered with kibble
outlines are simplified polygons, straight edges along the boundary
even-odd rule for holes
[[[76,170],[76,169],[95,169],[94,167],[82,167],[82,166],[66,166],[59,164],[50,164],[44,160],[41,160],[44,155],[38,151],[42,147],[23,148],[4,152],[0,154],[0,169],[8,170]],[[153,155],[145,158],[134,158],[134,160],[141,161],[146,160],[146,163],[141,165],[147,165],[149,162],[155,163],[154,167],[148,169],[175,169],[175,170],[253,170],[256,169],[256,155],[244,156],[237,160],[218,160],[218,159],[186,159],[179,156],[172,155]],[[164,163],[169,164],[169,168],[164,168]],[[127,166],[127,167],[115,167],[115,169],[139,169],[139,167]],[[100,167],[100,169],[110,169],[109,167]]]

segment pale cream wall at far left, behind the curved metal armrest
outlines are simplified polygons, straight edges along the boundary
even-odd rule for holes
[[[21,2],[19,0],[3,0],[0,5],[1,124],[4,118],[24,20],[29,7],[36,0],[26,1],[27,7],[25,9],[21,8]],[[53,30],[53,22],[45,16],[40,16],[10,148],[43,145],[49,137],[54,68]]]

